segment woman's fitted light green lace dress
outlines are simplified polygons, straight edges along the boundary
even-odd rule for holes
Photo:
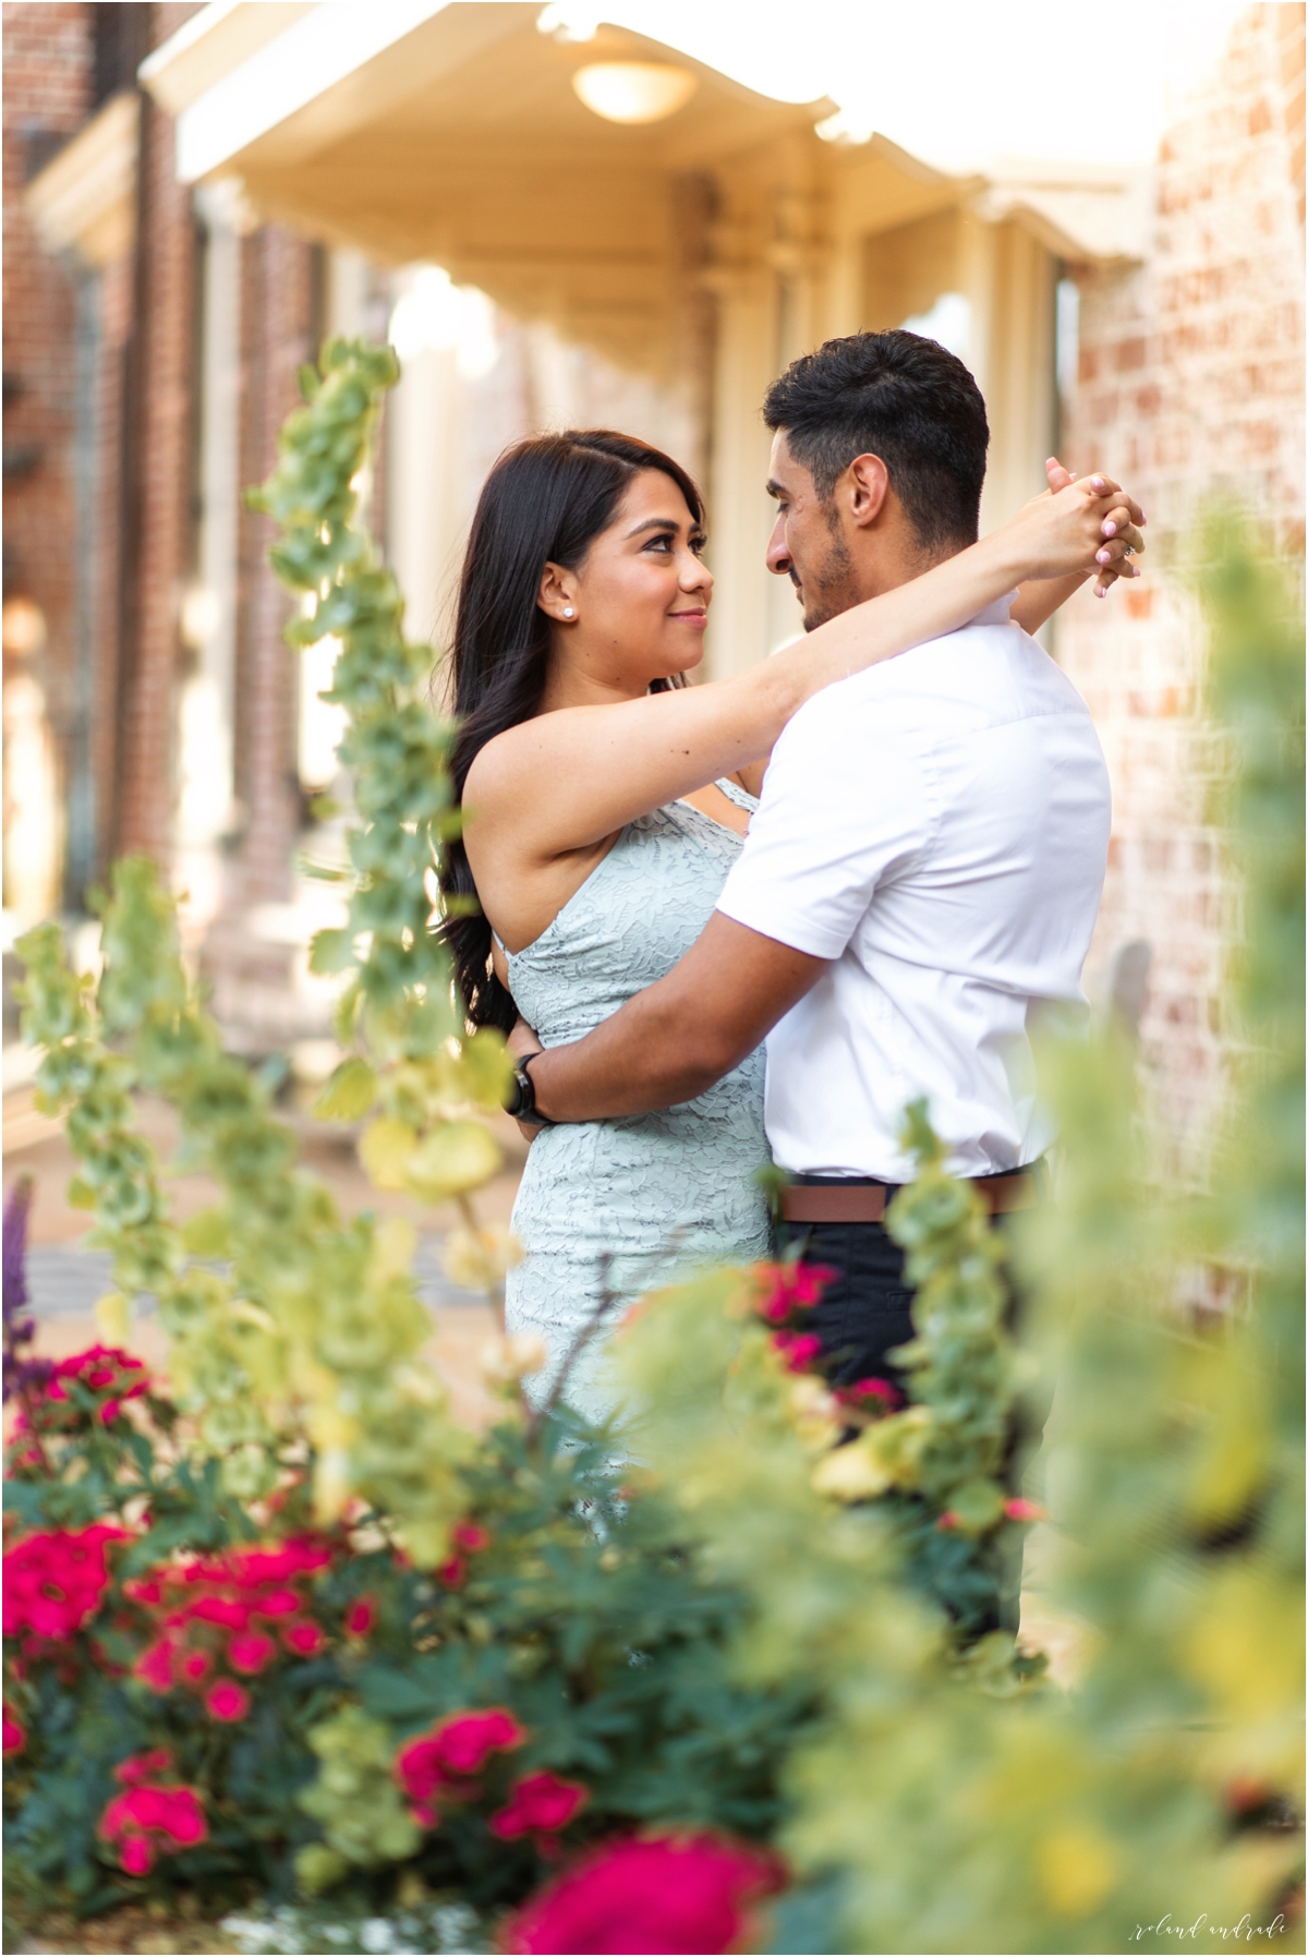
[[[718,787],[757,808],[735,783]],[[544,1047],[581,1039],[690,949],[721,894],[741,838],[688,802],[630,822],[536,943],[508,955],[518,1012]],[[755,1180],[768,1161],[763,1047],[706,1094],[663,1114],[547,1127],[528,1151],[512,1227],[526,1258],[508,1274],[510,1333],[549,1354],[528,1380],[545,1397],[602,1294],[612,1325],[655,1286],[704,1264],[768,1252]],[[565,1397],[600,1419],[614,1405],[604,1331],[569,1370]]]

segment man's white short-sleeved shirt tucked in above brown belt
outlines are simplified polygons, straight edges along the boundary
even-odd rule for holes
[[[800,708],[718,902],[831,961],[768,1035],[782,1168],[903,1180],[919,1096],[956,1174],[1044,1153],[1032,1033],[1085,1016],[1109,824],[1089,710],[1007,599]]]

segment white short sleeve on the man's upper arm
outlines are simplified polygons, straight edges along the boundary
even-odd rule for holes
[[[718,898],[725,918],[815,959],[841,957],[878,885],[931,838],[919,744],[843,695],[827,687],[784,730]]]

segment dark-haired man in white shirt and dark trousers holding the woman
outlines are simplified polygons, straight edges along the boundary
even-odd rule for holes
[[[829,341],[772,386],[764,419],[768,566],[794,579],[806,628],[976,540],[985,407],[933,341]],[[1030,1200],[1052,1139],[1032,1033],[1085,1010],[1109,814],[1089,712],[1007,601],[827,687],[776,744],[696,945],[590,1035],[532,1055],[538,1114],[675,1106],[766,1037],[782,1215],[841,1272],[813,1329],[835,1378],[894,1376],[911,1292],[882,1217],[911,1176],[905,1104],[927,1096],[991,1213]]]

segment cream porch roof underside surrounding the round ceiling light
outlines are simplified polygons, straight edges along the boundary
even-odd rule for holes
[[[948,176],[878,135],[821,141],[835,104],[780,102],[663,41],[544,33],[536,0],[213,0],[141,70],[178,119],[186,182],[336,247],[436,260],[520,317],[667,372],[688,284],[786,272],[835,229],[874,235],[987,198],[1068,258],[1130,254],[1112,172]],[[602,119],[577,70],[659,63],[692,84],[657,121]],[[1071,176],[1071,182],[1068,180]],[[800,209],[802,205],[802,209]]]

